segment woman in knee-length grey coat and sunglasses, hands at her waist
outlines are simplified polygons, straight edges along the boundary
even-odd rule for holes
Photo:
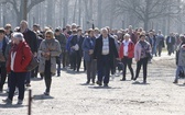
[[[52,76],[56,72],[56,57],[62,53],[59,42],[54,38],[53,31],[45,32],[45,39],[39,48],[39,71],[44,74],[46,90],[45,95],[50,95]]]

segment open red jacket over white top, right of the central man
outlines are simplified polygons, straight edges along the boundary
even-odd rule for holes
[[[123,58],[124,57],[124,54],[123,54],[123,43],[121,43],[121,46],[120,46],[120,49],[119,49],[119,58]],[[133,42],[129,42],[129,45],[128,45],[128,57],[129,58],[133,58],[134,56],[134,43]]]

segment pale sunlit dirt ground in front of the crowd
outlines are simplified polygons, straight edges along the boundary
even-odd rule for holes
[[[110,88],[83,85],[84,72],[63,71],[53,77],[51,96],[44,96],[43,80],[32,81],[32,115],[185,115],[185,85],[173,84],[174,56],[162,55],[149,65],[148,84],[133,81],[110,81]],[[135,70],[135,64],[133,65]],[[81,69],[83,70],[83,69]],[[128,73],[127,79],[130,79]],[[142,71],[138,79],[142,82]],[[28,115],[28,91],[23,106],[2,104],[7,94],[0,94],[0,115]]]

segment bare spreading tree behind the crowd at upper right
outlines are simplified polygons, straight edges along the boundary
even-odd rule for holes
[[[119,14],[131,11],[144,23],[144,30],[148,30],[150,20],[179,12],[176,0],[116,0],[116,5]]]

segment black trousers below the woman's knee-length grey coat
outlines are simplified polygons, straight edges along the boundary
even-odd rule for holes
[[[44,80],[46,87],[45,92],[50,92],[52,84],[51,60],[45,61]]]

